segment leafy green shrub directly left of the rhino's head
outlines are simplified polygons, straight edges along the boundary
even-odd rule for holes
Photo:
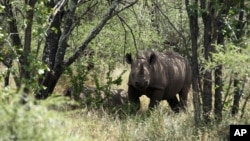
[[[94,68],[88,69],[89,65],[92,64],[90,60],[93,61]],[[98,59],[90,60],[85,57],[85,60],[77,61],[73,69],[68,68],[65,75],[69,79],[68,81],[63,80],[63,83],[68,84],[71,88],[71,98],[74,100],[84,105],[100,107],[103,106],[104,101],[110,98],[114,87],[122,84],[122,76],[126,70],[113,76],[117,67],[114,60],[108,60],[108,65]],[[84,98],[82,98],[83,95]]]

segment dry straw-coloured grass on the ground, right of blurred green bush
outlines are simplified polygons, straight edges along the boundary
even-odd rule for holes
[[[125,69],[128,68],[125,67]],[[116,77],[123,70],[124,67],[117,67],[112,76]],[[119,88],[126,89],[128,72],[123,75],[124,81],[122,85],[118,86]],[[64,85],[58,87],[59,90],[63,88]],[[243,119],[238,116],[231,117],[227,111],[224,111],[223,120],[220,124],[211,123],[197,129],[194,126],[191,95],[189,96],[187,112],[180,114],[173,113],[166,101],[162,101],[158,107],[149,111],[147,110],[149,99],[145,96],[140,99],[142,101],[140,111],[142,112],[130,114],[126,110],[119,109],[123,112],[122,118],[117,114],[118,112],[110,113],[109,110],[104,108],[85,107],[75,111],[50,111],[54,113],[54,116],[50,118],[62,121],[60,123],[63,124],[57,124],[53,128],[48,126],[44,131],[48,132],[46,135],[49,135],[51,130],[53,130],[53,133],[60,133],[55,133],[54,138],[65,141],[221,141],[228,139],[230,124],[250,124],[248,118],[250,116],[249,106]],[[34,115],[40,114],[40,118],[51,116],[51,114],[46,114],[47,111],[43,112],[43,114],[39,111],[36,112]],[[60,118],[55,118],[55,116]],[[44,122],[46,123],[46,120]],[[33,125],[27,126],[30,127],[25,130],[32,130]],[[56,135],[60,135],[60,137]]]

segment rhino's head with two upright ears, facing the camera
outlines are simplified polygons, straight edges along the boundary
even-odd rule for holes
[[[151,66],[156,62],[155,53],[137,56],[134,60],[128,53],[126,54],[126,62],[131,66],[130,85],[140,90],[146,89],[149,86],[151,75],[153,75],[151,74]]]

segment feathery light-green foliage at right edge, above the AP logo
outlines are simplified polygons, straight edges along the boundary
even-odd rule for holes
[[[249,82],[246,80],[250,75],[249,52],[249,45],[245,47],[235,46],[231,43],[226,44],[225,47],[217,45],[216,51],[212,53],[213,59],[205,63],[205,70],[214,70],[219,65],[223,67],[223,90],[221,92],[223,110],[228,111],[231,109],[233,94],[236,90],[236,86],[233,84],[234,79],[239,81],[237,87],[242,92],[242,95],[248,95],[249,87],[247,84]]]

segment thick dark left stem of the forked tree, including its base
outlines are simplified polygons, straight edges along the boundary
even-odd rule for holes
[[[47,6],[50,9],[53,8],[56,4],[57,3],[51,0],[47,3]],[[47,36],[45,38],[45,47],[43,50],[42,60],[45,64],[48,65],[50,71],[47,71],[44,74],[44,77],[39,80],[39,84],[45,88],[40,88],[40,90],[38,90],[38,93],[36,94],[36,99],[48,98],[53,92],[60,76],[64,71],[62,65],[58,65],[57,67],[55,67],[56,56],[60,44],[60,38],[62,36],[62,31],[61,31],[62,18],[64,16],[63,8],[57,10],[58,10],[57,13],[54,13],[50,16],[50,26],[47,31]],[[65,26],[71,26],[71,25],[65,25]],[[64,46],[65,49],[66,47]],[[64,56],[65,52],[61,55]],[[61,61],[63,61],[63,59]]]

